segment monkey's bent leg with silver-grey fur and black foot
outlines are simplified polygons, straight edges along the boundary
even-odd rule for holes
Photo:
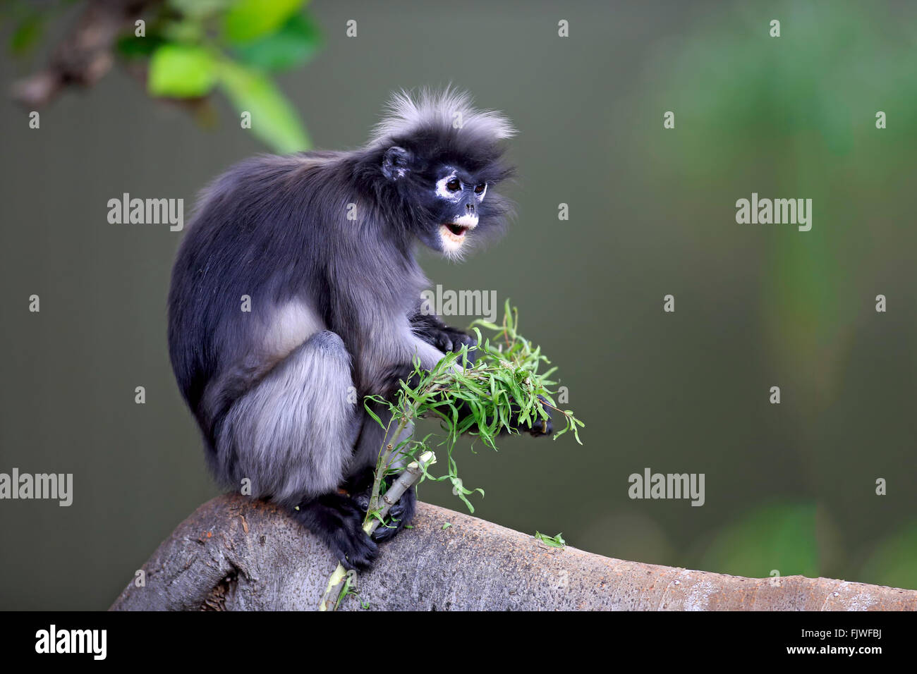
[[[233,404],[219,447],[252,495],[289,507],[346,567],[365,568],[377,547],[357,504],[337,492],[359,430],[352,385],[344,342],[316,333]]]

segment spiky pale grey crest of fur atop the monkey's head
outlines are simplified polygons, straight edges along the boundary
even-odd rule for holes
[[[370,146],[389,145],[400,138],[447,134],[467,143],[492,145],[512,138],[509,119],[492,110],[474,107],[471,96],[451,86],[441,92],[401,91],[385,106],[386,115],[373,129]]]

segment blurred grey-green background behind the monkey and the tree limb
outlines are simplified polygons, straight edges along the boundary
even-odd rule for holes
[[[230,164],[356,147],[392,90],[450,82],[520,129],[519,216],[462,265],[425,254],[425,271],[512,298],[587,425],[583,447],[526,436],[459,451],[465,484],[487,492],[476,514],[617,558],[917,588],[917,7],[605,5],[314,2],[268,27],[293,31],[286,49],[252,47],[250,19],[224,24],[241,33],[216,70],[200,65],[207,35],[173,21],[162,40],[206,52],[195,77],[169,79],[185,51],[145,87],[127,61],[151,53],[123,44],[39,129],[0,105],[0,472],[74,474],[69,508],[0,502],[0,608],[105,609],[216,493],[166,350],[182,234],[110,225],[108,199],[183,198],[188,215]],[[3,61],[5,93],[72,16],[35,31],[31,51],[28,17],[5,21],[5,49],[23,52]],[[182,86],[213,92],[150,98]],[[239,128],[234,106],[257,105],[255,128]],[[812,231],[737,225],[753,192],[811,198]],[[646,467],[705,473],[706,503],[630,500],[627,477]],[[420,496],[463,507],[446,484]]]

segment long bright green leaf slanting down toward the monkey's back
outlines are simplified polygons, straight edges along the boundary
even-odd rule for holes
[[[309,149],[303,123],[280,89],[261,72],[223,61],[220,83],[239,112],[251,114],[251,130],[282,154]]]

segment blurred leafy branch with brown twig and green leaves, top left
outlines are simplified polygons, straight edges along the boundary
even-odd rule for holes
[[[319,30],[304,12],[307,1],[167,0],[135,2],[134,9],[85,3],[74,33],[92,29],[105,35],[97,40],[104,44],[86,54],[79,40],[62,39],[49,69],[20,83],[18,97],[42,105],[66,83],[94,83],[115,55],[128,72],[145,79],[152,96],[182,102],[206,120],[213,111],[204,103],[218,89],[240,113],[250,114],[252,133],[272,150],[309,149],[302,120],[273,80],[321,47]],[[47,10],[14,2],[0,11],[0,18],[16,23],[9,44],[14,54],[27,55],[50,18],[62,14]],[[81,70],[84,62],[93,63],[87,72]]]

